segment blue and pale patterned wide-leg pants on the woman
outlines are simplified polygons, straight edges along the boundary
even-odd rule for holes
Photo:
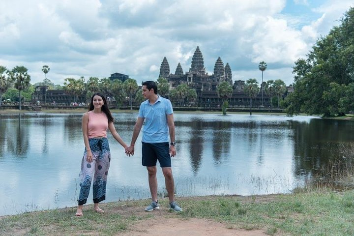
[[[89,146],[92,152],[92,162],[87,161],[87,150],[81,162],[79,206],[84,205],[89,197],[93,181],[93,203],[106,199],[107,175],[111,163],[111,152],[107,138],[90,138]]]

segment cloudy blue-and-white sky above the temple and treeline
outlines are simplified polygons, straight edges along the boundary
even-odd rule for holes
[[[292,67],[340,24],[354,0],[1,0],[0,65],[47,78],[156,81],[167,58],[189,71],[199,46],[209,74],[220,57],[233,81],[294,82]]]

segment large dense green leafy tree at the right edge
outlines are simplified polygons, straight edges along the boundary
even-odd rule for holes
[[[307,113],[325,117],[353,110],[354,81],[354,8],[313,46],[307,59],[298,59],[293,67],[294,94],[284,104],[289,115]]]

